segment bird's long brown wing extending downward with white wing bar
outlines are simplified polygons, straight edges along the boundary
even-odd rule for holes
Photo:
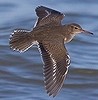
[[[45,87],[55,97],[61,89],[70,65],[70,57],[62,41],[39,43],[44,63]]]

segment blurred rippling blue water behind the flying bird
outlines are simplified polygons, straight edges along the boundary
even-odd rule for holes
[[[44,88],[38,49],[19,53],[9,47],[14,29],[33,28],[39,5],[63,12],[63,24],[75,22],[94,33],[66,44],[71,66],[54,100],[98,100],[98,0],[0,0],[0,100],[52,99]]]

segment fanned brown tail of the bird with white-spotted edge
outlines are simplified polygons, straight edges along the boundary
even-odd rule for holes
[[[13,50],[24,52],[28,50],[33,44],[35,40],[30,36],[30,32],[27,30],[14,30],[14,32],[10,35],[10,47]]]

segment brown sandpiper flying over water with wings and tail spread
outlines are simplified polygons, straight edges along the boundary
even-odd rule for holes
[[[57,10],[38,6],[35,12],[37,21],[33,29],[15,29],[10,35],[9,45],[19,52],[37,45],[43,61],[46,92],[55,97],[64,84],[71,61],[65,44],[78,33],[93,33],[76,23],[62,25],[65,15]]]

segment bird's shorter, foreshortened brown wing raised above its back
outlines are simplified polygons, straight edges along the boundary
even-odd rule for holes
[[[50,23],[54,25],[60,25],[61,20],[64,18],[64,14],[62,14],[61,12],[44,7],[44,6],[38,6],[35,9],[35,11],[38,16],[35,27],[43,26]]]

